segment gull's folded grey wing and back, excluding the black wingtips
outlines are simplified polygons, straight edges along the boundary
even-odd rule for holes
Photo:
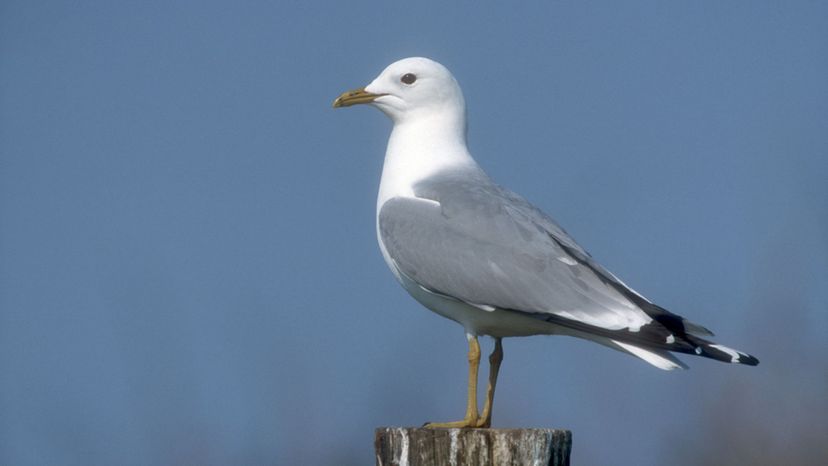
[[[485,175],[434,178],[415,194],[382,206],[379,231],[395,265],[420,286],[609,330],[652,321],[631,296],[646,300],[595,264],[551,218]]]

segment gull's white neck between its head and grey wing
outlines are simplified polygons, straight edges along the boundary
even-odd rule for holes
[[[418,181],[457,168],[479,169],[466,147],[465,115],[434,112],[395,121],[385,151],[377,211],[392,197],[413,197]]]

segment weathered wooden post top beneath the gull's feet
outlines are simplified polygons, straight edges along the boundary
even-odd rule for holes
[[[380,427],[377,466],[568,465],[572,433],[563,429]]]

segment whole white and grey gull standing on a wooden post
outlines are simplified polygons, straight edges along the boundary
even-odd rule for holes
[[[465,100],[443,65],[394,62],[333,106],[357,104],[394,124],[377,196],[382,256],[414,299],[463,326],[469,344],[465,416],[426,427],[491,426],[504,337],[583,338],[664,370],[687,367],[673,352],[759,363],[624,284],[551,217],[492,181],[466,146]],[[494,339],[482,412],[479,336]]]

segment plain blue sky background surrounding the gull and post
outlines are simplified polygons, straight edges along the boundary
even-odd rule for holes
[[[413,55],[497,181],[762,361],[509,339],[496,427],[571,429],[575,464],[828,457],[824,4],[7,1],[0,463],[370,464],[375,427],[461,416],[462,329],[376,245],[390,123],[330,108]]]

